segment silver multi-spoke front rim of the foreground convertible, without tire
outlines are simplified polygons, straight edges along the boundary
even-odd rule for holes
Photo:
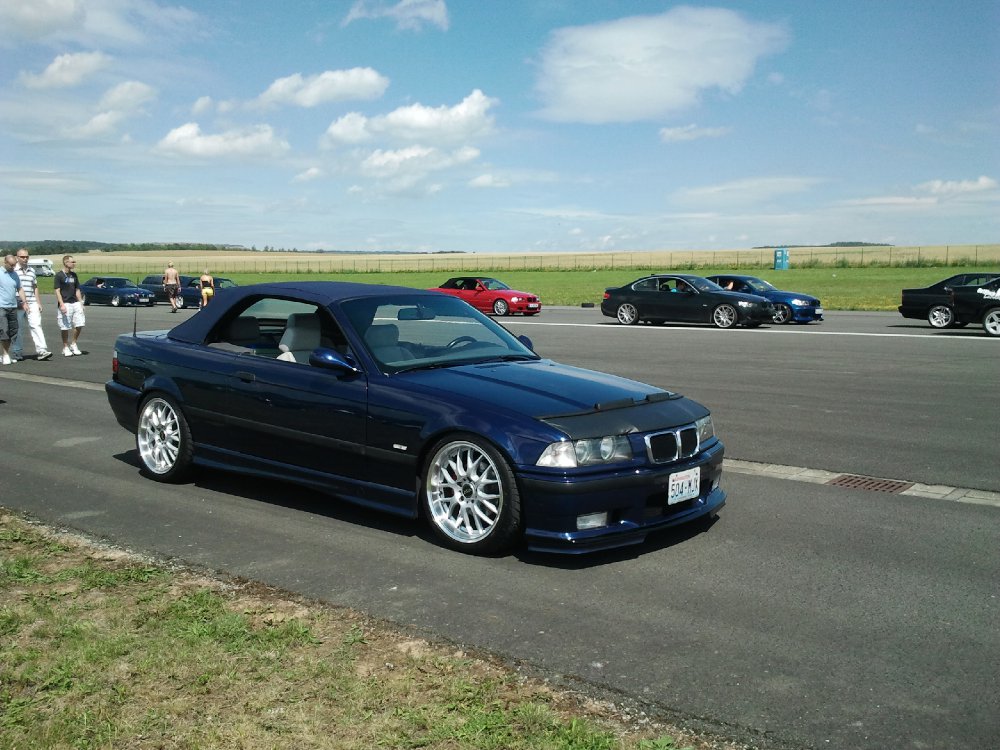
[[[488,537],[506,502],[493,459],[480,446],[464,440],[446,443],[434,455],[425,491],[431,522],[459,544]]]

